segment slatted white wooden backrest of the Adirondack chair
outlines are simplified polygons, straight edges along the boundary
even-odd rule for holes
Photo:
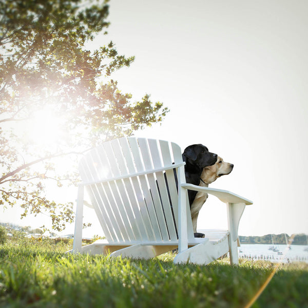
[[[106,239],[177,241],[176,176],[183,165],[181,148],[162,140],[121,138],[90,150],[79,171]],[[193,238],[188,218],[188,237]]]

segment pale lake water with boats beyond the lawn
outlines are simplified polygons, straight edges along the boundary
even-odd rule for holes
[[[253,258],[254,260],[268,260],[273,262],[295,262],[302,261],[308,263],[308,245],[291,245],[287,249],[286,245],[275,245],[278,252],[269,250],[270,244],[243,244],[238,247],[240,258]],[[280,254],[282,253],[282,254]]]

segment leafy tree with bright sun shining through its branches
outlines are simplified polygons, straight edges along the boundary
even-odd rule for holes
[[[23,216],[47,213],[57,230],[72,221],[72,203],[51,200],[46,183],[78,183],[64,165],[102,141],[162,121],[168,111],[148,94],[132,102],[111,79],[134,57],[119,55],[112,42],[86,48],[109,25],[107,3],[0,3],[0,205],[17,202]]]

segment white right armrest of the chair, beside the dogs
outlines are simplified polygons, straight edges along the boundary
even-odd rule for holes
[[[227,190],[203,187],[203,186],[187,184],[187,183],[182,183],[181,187],[185,189],[189,189],[189,190],[205,192],[206,194],[210,194],[210,195],[217,197],[219,200],[221,200],[224,203],[245,203],[246,205],[253,204],[251,200],[238,196],[234,194],[233,192],[230,192]]]

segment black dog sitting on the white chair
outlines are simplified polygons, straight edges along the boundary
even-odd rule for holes
[[[217,154],[209,152],[203,144],[192,144],[185,148],[182,158],[185,162],[186,183],[199,185],[203,168],[214,165],[217,161]],[[188,190],[190,207],[196,195],[197,191]]]

